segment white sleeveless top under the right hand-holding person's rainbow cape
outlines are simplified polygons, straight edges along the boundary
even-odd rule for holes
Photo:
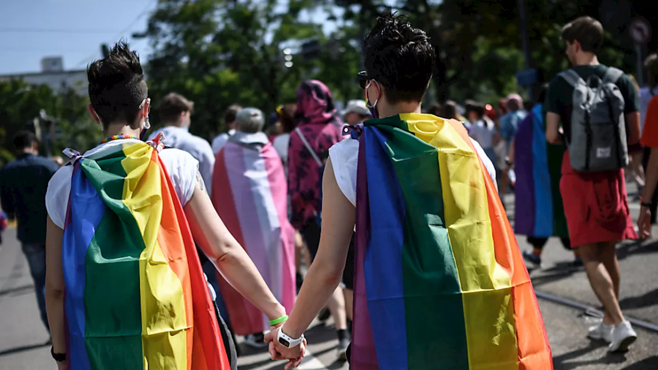
[[[493,184],[495,184],[495,168],[492,161],[487,157],[478,142],[470,138],[475,150],[478,152],[480,159],[484,163]],[[359,162],[359,140],[345,139],[329,148],[329,157],[331,158],[332,167],[334,167],[334,176],[341,192],[345,198],[355,207],[357,205],[357,163]]]

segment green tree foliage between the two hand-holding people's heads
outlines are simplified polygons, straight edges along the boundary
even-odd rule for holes
[[[272,112],[295,100],[303,79],[323,80],[341,96],[355,93],[345,75],[349,71],[354,80],[358,53],[351,43],[341,42],[347,40],[346,30],[336,32],[334,48],[323,47],[319,59],[294,55],[305,40],[315,38],[324,46],[331,41],[321,24],[301,20],[301,13],[318,3],[159,1],[145,33],[154,47],[147,74],[155,107],[166,93],[182,93],[195,102],[191,131],[211,138],[224,130],[221,117],[232,103]],[[284,66],[287,47],[293,50],[293,68]],[[161,124],[157,109],[154,113],[153,122]]]

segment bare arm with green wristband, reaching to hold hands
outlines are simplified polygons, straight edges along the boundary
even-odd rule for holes
[[[194,193],[184,211],[194,240],[222,276],[270,320],[286,315],[247,252],[217,215],[198,172]]]

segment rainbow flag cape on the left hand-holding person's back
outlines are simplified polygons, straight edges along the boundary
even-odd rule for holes
[[[75,162],[62,263],[69,369],[230,369],[190,228],[151,145]]]

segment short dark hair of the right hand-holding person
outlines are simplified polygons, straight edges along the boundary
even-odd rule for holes
[[[363,53],[366,73],[384,86],[389,103],[422,100],[435,59],[423,30],[385,11],[363,41]]]

